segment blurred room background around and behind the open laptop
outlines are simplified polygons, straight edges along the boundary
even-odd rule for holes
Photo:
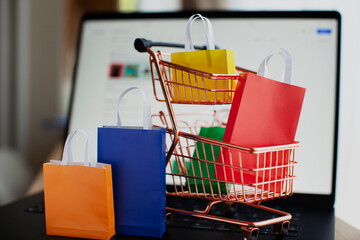
[[[341,13],[336,215],[360,229],[353,214],[360,212],[360,2],[350,0],[0,0],[0,205],[29,193],[42,163],[63,141],[81,16],[180,10]]]

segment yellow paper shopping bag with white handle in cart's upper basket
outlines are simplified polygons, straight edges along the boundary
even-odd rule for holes
[[[190,30],[196,19],[203,21],[207,50],[194,51]],[[235,74],[235,58],[233,50],[215,49],[212,25],[209,19],[195,14],[190,17],[186,28],[185,52],[171,54],[171,62],[216,74]],[[180,70],[172,72],[172,99],[174,102],[215,103],[231,100],[229,90],[235,90],[233,80],[215,80],[188,74]]]

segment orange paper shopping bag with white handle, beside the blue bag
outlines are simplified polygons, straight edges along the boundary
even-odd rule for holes
[[[72,160],[71,142],[77,132],[87,136],[83,163]],[[48,235],[105,240],[115,234],[111,165],[97,163],[94,150],[90,133],[79,129],[68,136],[62,161],[44,164]]]

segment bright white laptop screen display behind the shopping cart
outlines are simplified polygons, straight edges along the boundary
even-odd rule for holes
[[[284,48],[292,55],[292,84],[307,89],[296,134],[301,148],[296,151],[294,192],[330,195],[337,139],[339,15],[334,12],[203,15],[213,24],[216,45],[234,50],[237,66],[257,71],[263,58],[276,48]],[[131,86],[148,93],[153,114],[166,112],[165,104],[154,98],[149,56],[137,52],[133,44],[136,38],[183,43],[190,16],[182,13],[86,17],[80,33],[68,131],[86,128],[96,135],[98,127],[116,125],[117,98]],[[192,37],[195,44],[204,45],[201,27],[200,23],[194,24]],[[274,58],[269,68],[270,78],[281,78],[281,59]],[[126,98],[120,108],[123,125],[141,125],[141,107],[136,98]],[[201,105],[191,111],[229,108]],[[175,111],[189,111],[189,106],[177,105]],[[74,155],[75,159],[82,159],[82,151],[75,151]]]

